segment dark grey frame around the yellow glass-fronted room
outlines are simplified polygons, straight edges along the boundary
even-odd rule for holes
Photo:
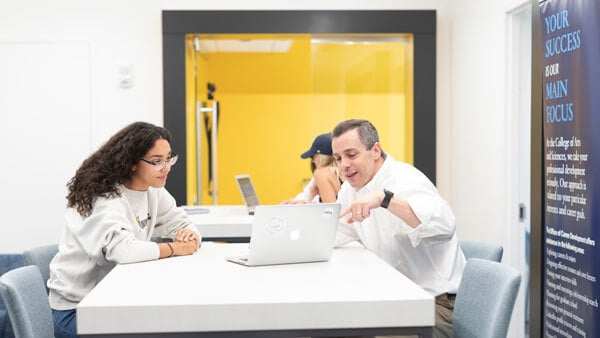
[[[186,149],[186,34],[413,34],[414,165],[436,177],[436,12],[435,10],[326,11],[163,11],[164,126],[171,147]],[[167,188],[186,204],[186,159],[169,174]]]

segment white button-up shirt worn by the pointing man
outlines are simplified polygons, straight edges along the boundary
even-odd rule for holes
[[[373,179],[358,191],[344,182],[338,202],[344,210],[357,198],[384,188],[405,199],[421,224],[413,229],[387,209],[376,208],[363,222],[341,221],[336,246],[360,240],[432,295],[456,293],[466,260],[455,233],[454,214],[417,168],[388,154]]]

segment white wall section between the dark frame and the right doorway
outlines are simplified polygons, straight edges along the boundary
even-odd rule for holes
[[[508,182],[510,121],[505,105],[505,35],[507,12],[523,2],[452,2],[449,53],[452,156],[440,163],[438,170],[445,168],[450,172],[448,198],[465,238],[488,241],[507,238],[510,224],[507,209],[513,206],[507,205],[506,197],[511,183]]]

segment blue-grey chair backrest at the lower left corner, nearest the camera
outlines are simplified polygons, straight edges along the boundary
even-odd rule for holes
[[[52,310],[37,266],[23,266],[0,276],[0,295],[16,337],[54,337]]]

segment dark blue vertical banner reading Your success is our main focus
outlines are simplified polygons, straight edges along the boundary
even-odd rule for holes
[[[545,337],[599,337],[600,12],[540,4],[543,42]]]

